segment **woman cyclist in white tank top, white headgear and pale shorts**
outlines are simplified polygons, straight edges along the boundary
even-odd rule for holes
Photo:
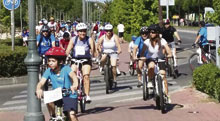
[[[113,73],[113,87],[117,86],[117,82],[116,82],[116,76],[117,76],[117,70],[116,70],[116,66],[117,66],[117,59],[118,59],[118,54],[121,53],[121,46],[119,43],[119,37],[113,33],[113,26],[111,24],[107,24],[105,25],[105,35],[103,35],[102,37],[100,37],[100,39],[98,40],[98,51],[99,52],[117,52],[114,54],[110,55],[110,61],[111,61],[111,66],[112,66],[112,73]],[[101,66],[101,70],[104,67],[105,61],[106,61],[106,54],[102,54],[102,58],[100,61],[100,66]]]

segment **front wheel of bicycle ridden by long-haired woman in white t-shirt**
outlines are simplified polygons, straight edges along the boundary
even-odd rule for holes
[[[163,79],[160,75],[157,76],[157,81],[158,81],[158,93],[160,97],[160,110],[161,113],[165,112],[165,94],[164,94],[164,88],[163,88]]]

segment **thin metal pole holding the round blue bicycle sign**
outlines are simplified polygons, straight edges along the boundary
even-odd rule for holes
[[[15,50],[15,18],[14,18],[15,0],[12,0],[11,10],[11,50]]]

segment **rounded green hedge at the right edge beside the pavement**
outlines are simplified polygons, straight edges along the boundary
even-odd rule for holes
[[[202,91],[220,101],[220,69],[213,64],[204,64],[193,72],[193,84]]]

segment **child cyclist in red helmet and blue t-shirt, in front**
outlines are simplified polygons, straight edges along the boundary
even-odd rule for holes
[[[65,51],[59,47],[50,48],[46,54],[48,57],[48,66],[49,68],[44,72],[43,77],[40,82],[38,82],[36,87],[36,95],[37,98],[41,99],[43,96],[43,87],[48,79],[52,82],[52,88],[56,89],[61,87],[62,89],[71,89],[71,94],[69,96],[64,96],[61,102],[63,103],[63,111],[68,113],[68,117],[71,121],[78,121],[76,117],[77,112],[77,87],[78,80],[76,74],[71,70],[69,66],[63,65],[65,61],[66,54]],[[51,103],[51,108],[49,110],[50,113],[50,121],[53,121],[55,115],[55,105],[57,105],[59,101],[55,101]]]

